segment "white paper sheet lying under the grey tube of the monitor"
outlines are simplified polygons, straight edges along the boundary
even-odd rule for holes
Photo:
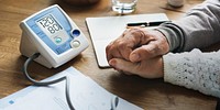
[[[62,76],[68,76],[70,79],[69,95],[76,110],[110,110],[113,94],[73,67],[47,79]],[[65,81],[22,89],[0,99],[0,110],[69,110],[65,97]],[[119,98],[117,110],[143,109]]]

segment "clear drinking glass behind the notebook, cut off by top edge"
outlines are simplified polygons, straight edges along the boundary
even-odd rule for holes
[[[112,10],[121,13],[132,13],[135,10],[138,0],[111,0]]]

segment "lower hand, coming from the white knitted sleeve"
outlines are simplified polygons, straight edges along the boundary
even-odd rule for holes
[[[112,58],[109,64],[114,67],[114,69],[127,75],[138,75],[144,78],[161,78],[164,76],[162,56],[143,59],[138,63],[132,63],[122,58]]]

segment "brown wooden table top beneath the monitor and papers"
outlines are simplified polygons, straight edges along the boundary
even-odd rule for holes
[[[139,0],[138,9],[133,14],[164,12],[170,20],[177,20],[200,2],[202,0],[186,0],[183,8],[175,9],[168,7],[166,0]],[[30,85],[21,73],[26,57],[21,56],[19,51],[20,21],[54,3],[59,4],[82,30],[90,46],[79,56],[56,69],[48,69],[37,63],[32,63],[30,72],[34,78],[43,79],[74,66],[110,92],[144,109],[213,110],[216,108],[216,98],[198,91],[166,84],[163,79],[125,76],[111,68],[98,67],[85,19],[117,15],[111,11],[110,0],[101,0],[92,7],[74,7],[62,0],[0,0],[0,98]]]

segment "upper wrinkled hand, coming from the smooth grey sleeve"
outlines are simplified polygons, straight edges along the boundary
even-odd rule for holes
[[[158,31],[143,28],[128,29],[107,48],[107,59],[122,58],[130,62],[141,62],[169,51],[166,37]]]

